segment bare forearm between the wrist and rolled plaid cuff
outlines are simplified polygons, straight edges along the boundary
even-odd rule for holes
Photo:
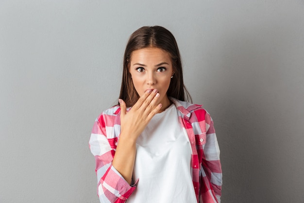
[[[136,141],[120,135],[112,165],[131,184],[136,154]]]

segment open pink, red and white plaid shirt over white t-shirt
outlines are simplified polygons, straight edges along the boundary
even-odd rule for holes
[[[191,146],[192,182],[198,203],[220,203],[222,173],[220,149],[209,113],[200,105],[174,98],[180,123]],[[129,110],[129,109],[128,109]],[[101,203],[124,203],[136,188],[112,166],[120,134],[120,108],[112,107],[96,119],[89,145],[96,160]]]

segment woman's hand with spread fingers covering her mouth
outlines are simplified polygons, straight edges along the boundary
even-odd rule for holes
[[[127,112],[127,107],[122,99],[120,104],[120,136],[136,141],[140,133],[146,128],[152,117],[161,109],[162,104],[157,105],[159,93],[156,89],[148,90],[142,95],[132,109]]]

